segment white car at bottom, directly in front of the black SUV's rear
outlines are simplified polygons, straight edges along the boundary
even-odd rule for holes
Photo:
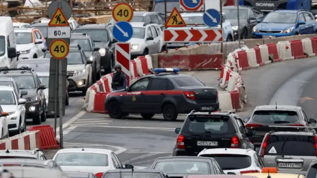
[[[261,173],[264,163],[253,149],[205,148],[198,156],[214,158],[225,174]]]

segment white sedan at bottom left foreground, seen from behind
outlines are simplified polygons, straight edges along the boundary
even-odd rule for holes
[[[97,178],[108,170],[123,169],[117,155],[107,149],[99,148],[66,148],[60,149],[53,160],[63,171],[91,172]]]

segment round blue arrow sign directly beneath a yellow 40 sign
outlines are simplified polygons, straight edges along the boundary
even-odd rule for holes
[[[133,28],[129,22],[119,21],[114,24],[112,34],[118,42],[127,42],[132,38]]]

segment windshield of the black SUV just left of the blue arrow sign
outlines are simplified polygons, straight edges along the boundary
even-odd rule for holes
[[[88,34],[94,42],[108,42],[108,34],[106,29],[75,29],[72,33]]]

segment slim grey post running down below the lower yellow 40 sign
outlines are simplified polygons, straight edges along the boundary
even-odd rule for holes
[[[62,67],[61,67],[62,60],[58,60],[58,63],[59,63],[58,64],[59,146],[60,148],[63,148],[63,87],[62,87]]]

